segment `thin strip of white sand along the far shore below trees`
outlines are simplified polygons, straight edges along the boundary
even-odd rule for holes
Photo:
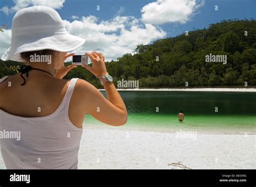
[[[105,89],[98,89],[105,91]],[[213,91],[213,92],[256,92],[256,88],[127,88],[118,91]]]

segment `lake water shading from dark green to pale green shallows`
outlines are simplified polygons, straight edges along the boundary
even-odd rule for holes
[[[105,92],[102,91],[105,95]],[[255,92],[119,91],[129,113],[127,124],[111,127],[89,114],[84,127],[140,131],[255,133]],[[159,112],[157,112],[157,107]],[[215,112],[218,107],[218,112]],[[183,110],[185,119],[178,121]]]

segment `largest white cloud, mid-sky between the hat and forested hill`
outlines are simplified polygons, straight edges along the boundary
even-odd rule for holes
[[[161,28],[144,24],[132,16],[116,16],[107,21],[88,16],[81,21],[64,20],[64,23],[70,34],[86,39],[76,53],[100,51],[106,60],[116,60],[125,53],[131,53],[138,44],[146,45],[166,35]]]

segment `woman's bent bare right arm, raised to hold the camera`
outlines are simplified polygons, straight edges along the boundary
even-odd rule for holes
[[[92,67],[85,66],[85,68],[95,76],[105,75],[107,71],[104,56],[97,52],[86,53],[86,55],[91,58]],[[97,56],[100,56],[100,60]],[[124,125],[127,121],[127,111],[122,97],[112,82],[104,82],[103,85],[107,99],[92,84],[79,79],[76,85],[76,92],[80,98],[79,108],[105,124]]]

